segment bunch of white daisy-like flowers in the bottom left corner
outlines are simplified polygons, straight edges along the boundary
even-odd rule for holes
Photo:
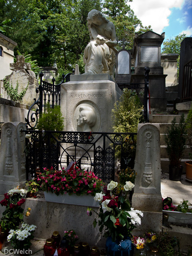
[[[7,237],[7,241],[11,242],[14,249],[29,249],[31,242],[34,238],[33,233],[36,226],[22,223],[21,228],[17,230],[11,229]]]

